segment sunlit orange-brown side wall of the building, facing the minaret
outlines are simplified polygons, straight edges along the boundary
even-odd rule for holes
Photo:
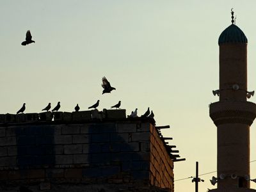
[[[153,125],[150,125],[150,184],[174,190],[173,161]]]

